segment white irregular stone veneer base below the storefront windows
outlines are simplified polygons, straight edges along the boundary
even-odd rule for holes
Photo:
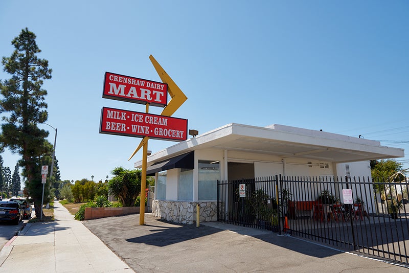
[[[200,221],[217,221],[217,203],[189,202],[171,200],[153,200],[152,214],[167,221],[181,224],[192,224],[196,221],[196,205],[200,206]]]

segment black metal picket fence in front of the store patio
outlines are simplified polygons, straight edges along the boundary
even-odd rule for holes
[[[241,191],[240,185],[245,190]],[[264,177],[218,181],[218,220],[409,264],[408,181]],[[278,200],[278,201],[277,201]],[[278,216],[278,223],[275,221]]]

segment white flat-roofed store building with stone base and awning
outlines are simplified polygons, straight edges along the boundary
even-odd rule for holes
[[[273,175],[371,176],[369,161],[403,157],[377,141],[283,125],[228,124],[148,157],[155,175],[152,212],[179,223],[216,218],[217,180]],[[142,161],[134,164],[141,168]]]

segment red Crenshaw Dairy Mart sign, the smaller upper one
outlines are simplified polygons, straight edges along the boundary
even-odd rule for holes
[[[105,72],[102,98],[163,107],[168,103],[168,85]]]

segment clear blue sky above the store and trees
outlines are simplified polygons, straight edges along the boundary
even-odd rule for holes
[[[407,1],[3,0],[0,56],[21,29],[37,35],[53,69],[43,88],[62,179],[105,179],[142,158],[127,161],[141,139],[99,134],[99,123],[102,106],[145,111],[103,99],[102,86],[106,71],[160,81],[150,54],[188,97],[173,116],[190,129],[235,122],[363,135],[404,148],[407,162],[408,14]],[[54,130],[41,127],[53,143]],[[18,156],[2,155],[13,170]]]

